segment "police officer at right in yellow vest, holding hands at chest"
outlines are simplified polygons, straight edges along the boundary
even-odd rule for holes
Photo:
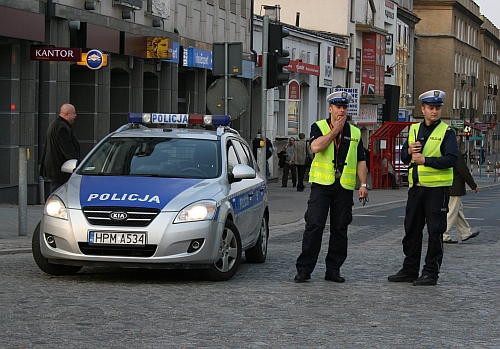
[[[389,276],[392,282],[413,282],[415,286],[436,285],[443,261],[443,233],[453,183],[458,147],[453,130],[440,120],[445,93],[431,90],[420,95],[424,121],[410,127],[401,159],[410,164],[406,203],[403,268]],[[420,277],[422,231],[429,235],[425,264]]]

